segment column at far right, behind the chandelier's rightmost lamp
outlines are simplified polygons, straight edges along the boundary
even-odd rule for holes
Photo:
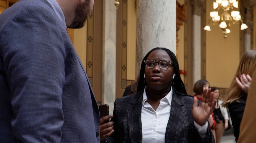
[[[248,26],[244,34],[244,52],[251,50],[251,33],[253,30],[253,21],[251,11],[256,6],[256,0],[244,0],[243,6],[245,8],[244,23]]]

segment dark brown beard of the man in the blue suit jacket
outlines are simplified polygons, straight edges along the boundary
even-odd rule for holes
[[[74,19],[68,28],[79,29],[84,27],[85,21],[90,14],[90,0],[76,4]]]

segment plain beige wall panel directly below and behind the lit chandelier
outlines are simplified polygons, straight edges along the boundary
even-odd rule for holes
[[[207,0],[206,5],[208,20],[211,18],[209,13],[213,11],[213,0]],[[226,41],[218,25],[210,24],[210,27],[211,31],[206,32],[206,80],[210,82],[210,86],[229,88],[240,60],[240,26],[231,25],[231,33]]]

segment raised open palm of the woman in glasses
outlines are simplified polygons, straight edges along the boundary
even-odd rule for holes
[[[192,114],[194,121],[200,126],[203,126],[207,122],[209,116],[214,110],[217,100],[215,99],[213,101],[212,97],[213,92],[211,92],[211,88],[203,91],[203,98],[200,106],[197,106],[198,99],[196,96],[194,97]]]

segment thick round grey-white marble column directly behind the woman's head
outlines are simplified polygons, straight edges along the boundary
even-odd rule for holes
[[[146,53],[155,47],[176,54],[176,0],[137,0],[136,75]]]

